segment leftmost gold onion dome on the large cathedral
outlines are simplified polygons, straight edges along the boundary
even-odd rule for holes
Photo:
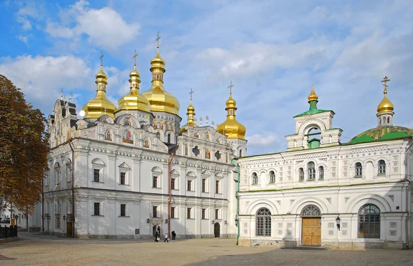
[[[96,74],[96,96],[83,105],[82,110],[85,111],[85,119],[100,118],[102,115],[109,115],[115,118],[115,104],[106,98],[107,75],[103,71],[103,65],[100,64],[100,71]]]

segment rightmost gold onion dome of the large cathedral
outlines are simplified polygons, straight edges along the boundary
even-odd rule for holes
[[[232,93],[229,93],[229,98],[226,100],[226,120],[218,125],[217,131],[226,135],[229,139],[245,140],[245,126],[238,122],[235,118],[237,102],[232,98]]]

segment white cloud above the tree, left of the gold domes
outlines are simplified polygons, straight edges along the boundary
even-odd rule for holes
[[[0,73],[21,88],[26,100],[47,111],[65,91],[93,86],[91,70],[81,58],[74,56],[18,56],[3,58]]]

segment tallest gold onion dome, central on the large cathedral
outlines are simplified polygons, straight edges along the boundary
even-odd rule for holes
[[[142,93],[148,99],[150,111],[167,112],[179,115],[179,101],[163,87],[165,60],[160,57],[159,47],[156,56],[151,60],[152,85],[148,91]]]

